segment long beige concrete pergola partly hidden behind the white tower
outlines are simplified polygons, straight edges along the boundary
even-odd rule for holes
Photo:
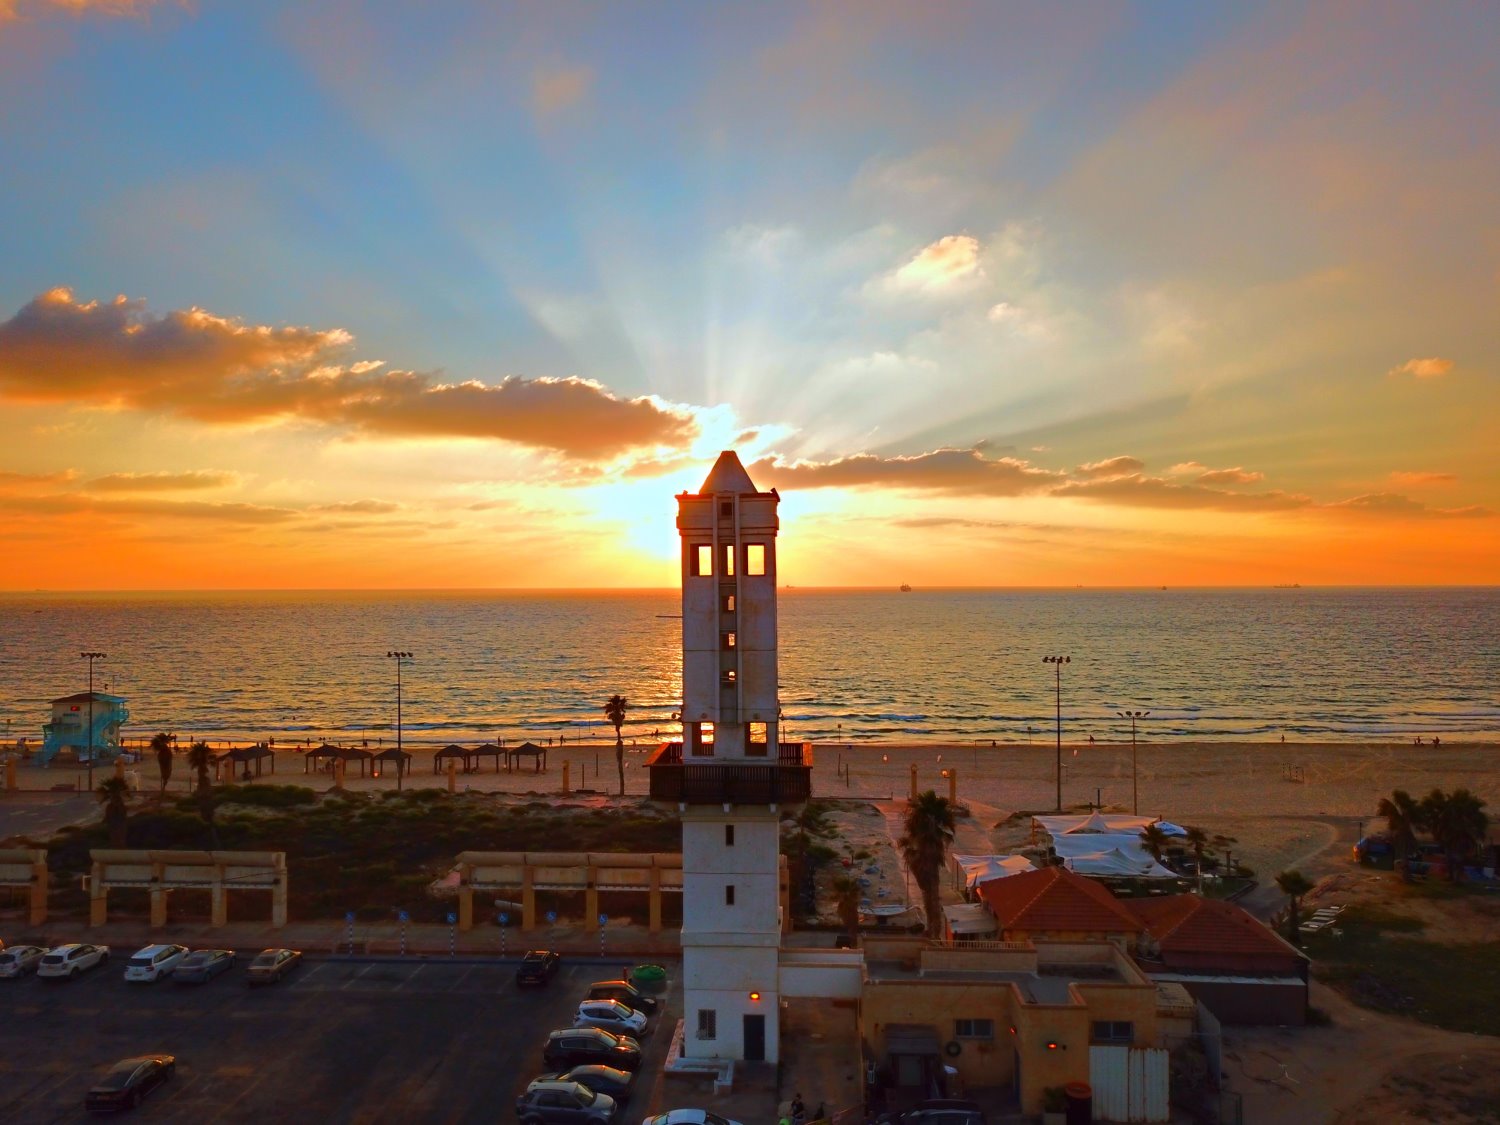
[[[598,930],[602,891],[645,892],[648,928],[662,930],[662,896],[682,894],[681,852],[459,852],[459,928],[474,928],[474,892],[519,891],[520,928],[537,927],[537,891],[584,891],[584,928]],[[790,933],[790,879],[782,856],[783,932]]]

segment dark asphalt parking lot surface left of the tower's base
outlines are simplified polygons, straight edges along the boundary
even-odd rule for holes
[[[549,1030],[573,1022],[588,984],[628,966],[564,958],[518,990],[516,960],[309,960],[278,986],[234,970],[204,986],[126,984],[123,954],[74,981],[0,981],[0,1120],[88,1120],[84,1094],[129,1054],[177,1056],[177,1077],[136,1114],[162,1122],[494,1122],[542,1072]],[[642,1038],[624,1114],[658,1108],[681,1016],[674,987]]]

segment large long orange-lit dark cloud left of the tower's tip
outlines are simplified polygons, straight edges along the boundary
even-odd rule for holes
[[[201,309],[80,303],[52,290],[0,322],[0,394],[160,411],[206,423],[302,418],[388,436],[513,441],[572,458],[681,444],[696,426],[652,399],[580,378],[440,382],[336,360],[342,330],[243,326]]]

